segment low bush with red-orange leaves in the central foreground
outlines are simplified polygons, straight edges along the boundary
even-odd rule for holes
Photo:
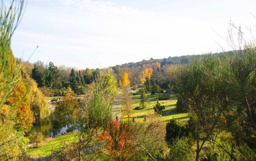
[[[104,141],[104,145],[99,149],[104,154],[117,161],[130,160],[134,157],[132,127],[129,122],[118,123],[112,120],[98,137],[100,137],[99,141]]]

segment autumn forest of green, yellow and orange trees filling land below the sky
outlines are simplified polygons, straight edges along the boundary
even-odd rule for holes
[[[24,1],[11,6],[1,3],[1,160],[256,160],[256,46],[239,26],[228,28],[232,51],[78,70],[15,58]],[[54,138],[33,129],[53,97],[52,124],[70,130]],[[56,140],[49,155],[28,153]]]

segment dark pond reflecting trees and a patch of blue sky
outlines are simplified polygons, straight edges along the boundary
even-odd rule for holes
[[[57,122],[58,119],[58,108],[55,108],[55,111],[51,113],[49,117],[46,117],[36,123],[33,123],[31,130],[40,131],[45,137],[59,135],[61,133],[71,132],[67,126],[60,127]],[[78,131],[78,130],[75,130]]]

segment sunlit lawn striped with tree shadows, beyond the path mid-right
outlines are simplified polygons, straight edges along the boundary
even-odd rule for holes
[[[162,94],[154,94],[150,95],[147,93],[147,103],[145,109],[134,110],[135,107],[140,106],[140,95],[133,96],[133,104],[132,109],[130,110],[130,117],[135,117],[136,120],[143,121],[144,115],[153,114],[154,113],[154,105],[156,105],[156,97],[163,96]],[[160,100],[162,105],[164,105],[165,109],[162,111],[162,120],[168,121],[170,119],[178,119],[181,123],[186,123],[189,119],[188,113],[180,113],[176,111],[176,95],[170,95],[170,99],[168,100]],[[127,119],[127,115],[125,111],[122,111],[123,119]]]

